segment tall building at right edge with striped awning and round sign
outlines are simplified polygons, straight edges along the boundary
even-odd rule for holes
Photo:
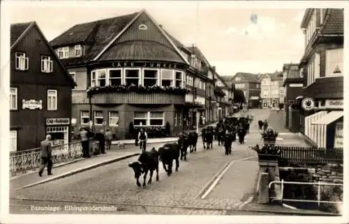
[[[305,51],[300,131],[313,145],[343,147],[343,9],[308,8],[301,27]]]

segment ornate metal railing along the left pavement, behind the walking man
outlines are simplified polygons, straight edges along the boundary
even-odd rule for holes
[[[27,173],[28,170],[38,168],[40,166],[40,154],[40,147],[31,150],[10,152],[10,174],[15,176],[18,172]],[[80,157],[82,157],[80,141],[52,147],[53,163],[71,161]]]

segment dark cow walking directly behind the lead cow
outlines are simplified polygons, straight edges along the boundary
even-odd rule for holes
[[[166,143],[163,147],[158,149],[159,159],[163,162],[163,169],[168,173],[168,176],[172,174],[173,160],[176,161],[176,172],[179,168],[179,145],[177,143]],[[168,168],[166,168],[166,165]]]

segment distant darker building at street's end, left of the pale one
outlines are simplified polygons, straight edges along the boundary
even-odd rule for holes
[[[257,74],[237,72],[231,79],[236,89],[244,92],[246,104],[257,108],[260,104],[260,81]]]

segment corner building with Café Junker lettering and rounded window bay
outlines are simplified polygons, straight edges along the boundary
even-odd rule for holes
[[[189,63],[147,11],[77,24],[50,44],[77,83],[75,132],[109,128],[124,139],[132,127],[182,130]]]

